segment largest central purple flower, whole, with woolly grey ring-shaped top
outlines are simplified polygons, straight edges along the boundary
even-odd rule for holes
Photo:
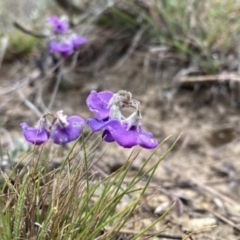
[[[119,91],[113,94],[110,91],[99,93],[92,91],[87,98],[87,105],[95,114],[95,118],[88,119],[89,126],[94,132],[103,130],[102,138],[106,142],[116,141],[124,148],[136,145],[147,149],[157,147],[158,141],[153,138],[152,133],[142,130],[139,102],[132,99],[131,93]],[[134,109],[128,118],[121,113],[124,107]]]

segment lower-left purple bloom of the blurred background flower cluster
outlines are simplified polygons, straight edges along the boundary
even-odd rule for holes
[[[49,53],[60,53],[63,57],[68,57],[73,53],[72,43],[60,43],[56,41],[51,41],[49,43]]]

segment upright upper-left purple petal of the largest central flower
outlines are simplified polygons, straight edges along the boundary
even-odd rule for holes
[[[109,117],[108,103],[112,98],[113,93],[110,91],[103,91],[97,93],[91,91],[87,98],[87,106],[95,114],[98,120],[104,120]]]

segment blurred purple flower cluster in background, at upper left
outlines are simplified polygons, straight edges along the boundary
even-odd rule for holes
[[[67,18],[52,16],[49,18],[49,23],[54,33],[49,42],[51,54],[59,53],[63,57],[68,57],[77,51],[80,45],[87,42],[86,38],[70,29]]]

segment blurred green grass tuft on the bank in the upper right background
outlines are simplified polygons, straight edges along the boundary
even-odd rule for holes
[[[115,28],[120,41],[119,35],[131,39],[139,29],[145,29],[140,46],[169,46],[205,74],[221,71],[226,56],[238,52],[239,1],[113,2],[98,16],[98,23]]]

